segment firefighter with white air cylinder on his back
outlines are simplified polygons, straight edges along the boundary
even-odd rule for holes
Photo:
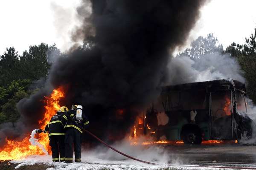
[[[75,150],[75,162],[81,162],[81,133],[82,129],[89,125],[89,121],[84,113],[81,105],[72,105],[61,119],[65,125],[65,162],[73,162],[73,149]]]

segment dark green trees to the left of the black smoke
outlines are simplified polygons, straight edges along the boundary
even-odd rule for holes
[[[61,55],[55,44],[30,46],[22,55],[14,47],[6,48],[0,56],[0,123],[15,123],[20,118],[16,104],[40,88],[32,83],[47,77],[52,54]]]

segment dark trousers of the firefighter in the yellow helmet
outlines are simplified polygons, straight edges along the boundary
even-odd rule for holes
[[[49,145],[52,149],[52,161],[65,161],[65,136],[52,135],[49,136]]]

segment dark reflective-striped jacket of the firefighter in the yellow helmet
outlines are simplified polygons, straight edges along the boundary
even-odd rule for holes
[[[44,133],[48,132],[49,136],[53,135],[65,135],[61,119],[64,116],[63,112],[56,113],[52,116],[50,122],[46,125]]]

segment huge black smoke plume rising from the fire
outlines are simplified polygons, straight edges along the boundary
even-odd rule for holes
[[[85,7],[91,3],[88,17]],[[46,86],[18,103],[21,121],[36,127],[44,111],[40,99],[66,85],[63,105],[81,104],[90,130],[107,139],[122,138],[138,111],[158,94],[175,47],[186,42],[205,0],[83,0],[84,24],[73,40],[92,42],[73,49],[50,70]],[[119,113],[119,110],[123,113]]]

